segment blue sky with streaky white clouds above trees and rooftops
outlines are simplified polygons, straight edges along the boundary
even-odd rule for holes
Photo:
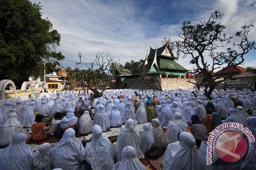
[[[256,0],[31,0],[39,1],[42,17],[48,17],[61,34],[56,51],[73,61],[79,61],[78,51],[85,63],[93,62],[98,51],[122,64],[145,59],[150,46],[159,48],[164,37],[178,40],[183,21],[197,24],[208,20],[216,9],[224,13],[220,22],[228,35],[254,24],[249,38],[256,40]],[[256,50],[244,58],[242,67],[256,67]],[[188,70],[193,68],[189,58],[177,62]],[[62,63],[76,67],[75,62]]]

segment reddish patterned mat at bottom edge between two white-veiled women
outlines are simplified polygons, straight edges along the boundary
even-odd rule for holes
[[[141,163],[144,165],[146,170],[163,170],[162,161],[163,161],[164,153],[161,157],[156,160],[149,159],[145,157],[140,159]]]

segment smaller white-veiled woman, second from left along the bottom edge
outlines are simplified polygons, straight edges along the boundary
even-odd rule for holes
[[[52,149],[49,143],[41,144],[33,156],[34,170],[52,170]]]

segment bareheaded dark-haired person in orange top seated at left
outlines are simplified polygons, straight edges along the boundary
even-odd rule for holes
[[[50,136],[45,132],[48,132],[50,130],[50,128],[52,127],[52,124],[46,127],[45,123],[42,123],[43,119],[44,119],[44,115],[38,114],[35,116],[36,124],[33,124],[31,127],[31,130],[33,131],[31,138],[34,141],[41,141]]]

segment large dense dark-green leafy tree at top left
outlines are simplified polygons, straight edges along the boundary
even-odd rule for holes
[[[60,45],[61,35],[52,23],[41,15],[40,3],[29,0],[0,1],[0,77],[21,84],[29,76],[44,73],[44,55],[53,65],[64,59],[54,49]]]

